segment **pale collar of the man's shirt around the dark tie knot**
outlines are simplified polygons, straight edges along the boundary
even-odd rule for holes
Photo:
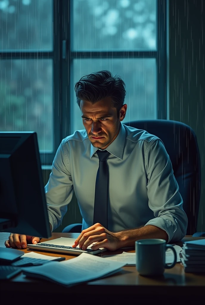
[[[124,143],[126,138],[126,131],[124,125],[120,122],[120,131],[117,135],[117,138],[106,148],[108,152],[112,155],[116,156],[120,160],[122,160],[123,152],[124,152]],[[94,147],[92,144],[90,149],[90,159],[94,155],[94,153],[98,150],[97,147]],[[99,149],[100,150],[100,149]]]

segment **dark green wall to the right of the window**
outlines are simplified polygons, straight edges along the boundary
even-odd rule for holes
[[[170,0],[169,2],[170,120],[191,126],[199,145],[202,184],[197,231],[205,231],[202,222],[202,217],[205,216],[205,211],[202,209],[205,200],[205,16],[204,7],[202,12],[202,2],[204,1]]]

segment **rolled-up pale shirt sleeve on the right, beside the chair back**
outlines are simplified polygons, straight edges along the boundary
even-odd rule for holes
[[[149,143],[145,152],[147,194],[149,208],[155,218],[146,225],[154,225],[167,232],[168,241],[181,240],[186,235],[188,219],[183,199],[174,177],[171,160],[159,138]]]

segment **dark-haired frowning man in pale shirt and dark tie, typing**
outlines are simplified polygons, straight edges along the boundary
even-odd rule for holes
[[[81,77],[75,92],[85,130],[63,139],[56,152],[45,186],[51,229],[75,191],[83,224],[73,247],[95,242],[92,249],[116,250],[137,239],[182,239],[188,220],[164,144],[121,123],[124,82],[103,70]],[[27,240],[39,238],[11,234],[5,246],[25,248]]]

